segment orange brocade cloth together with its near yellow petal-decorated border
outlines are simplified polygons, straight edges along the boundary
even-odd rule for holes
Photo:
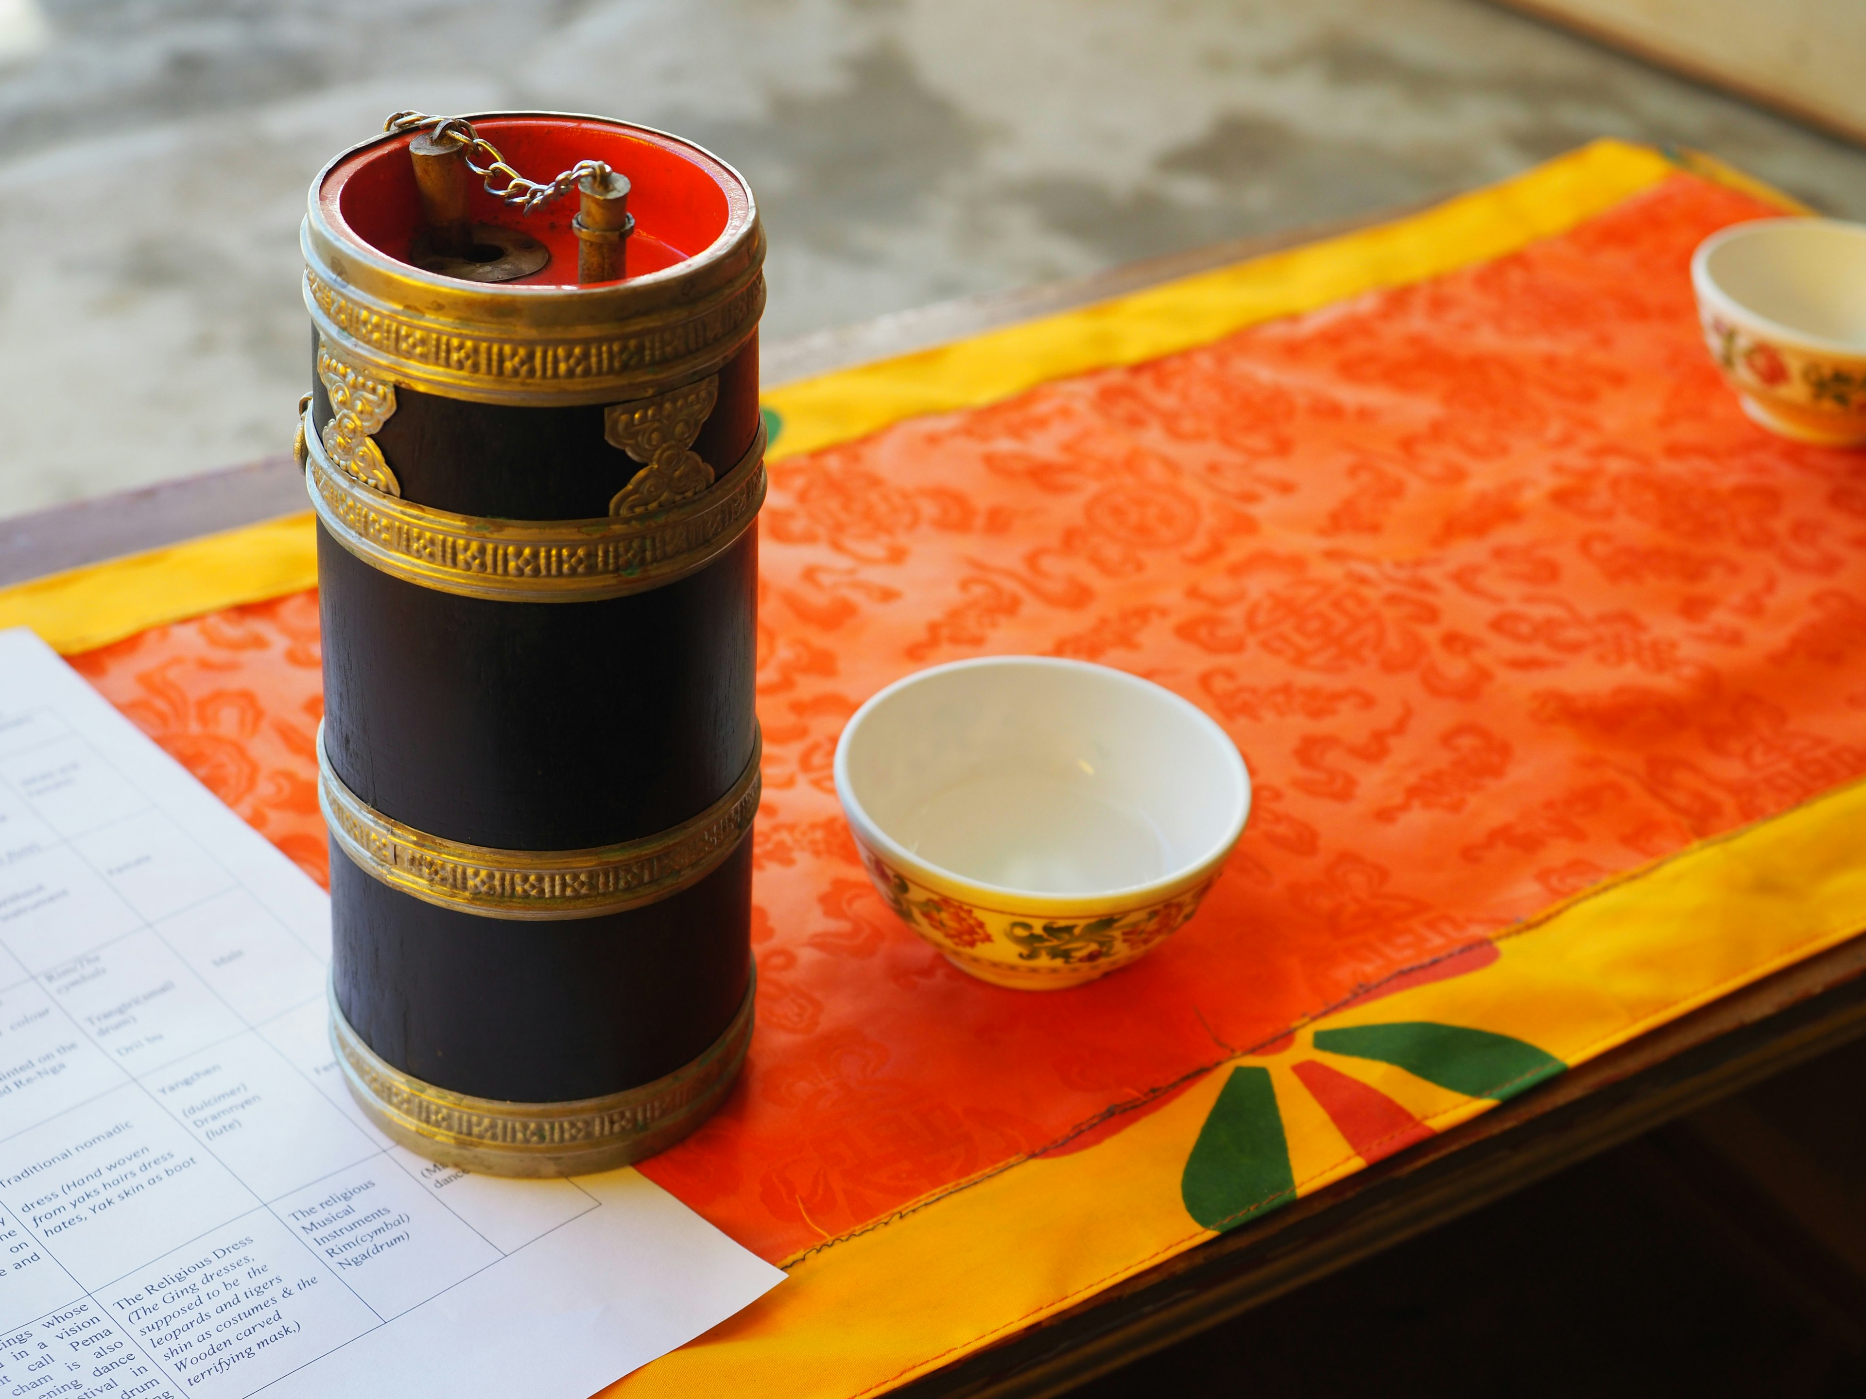
[[[1866,459],[1700,339],[1692,246],[1778,209],[1631,185],[774,461],[758,1035],[642,1171],[791,1280],[620,1393],[890,1388],[1866,925]],[[1079,990],[954,970],[836,808],[851,711],[980,653],[1155,679],[1256,780],[1200,916]],[[73,664],[327,877],[315,593]]]

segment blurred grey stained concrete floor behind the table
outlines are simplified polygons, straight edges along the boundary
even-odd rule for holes
[[[306,183],[403,106],[711,145],[765,211],[767,336],[1599,134],[1866,218],[1866,151],[1478,0],[0,0],[0,515],[282,450]]]

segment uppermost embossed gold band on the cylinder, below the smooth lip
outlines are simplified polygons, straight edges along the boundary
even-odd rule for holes
[[[306,237],[304,306],[345,360],[403,388],[526,409],[616,403],[718,373],[752,338],[765,310],[763,239],[752,246],[731,280],[685,306],[554,326],[513,313],[470,319],[483,308],[452,306],[450,295],[463,295],[448,287],[411,297],[422,312],[379,300],[345,285]],[[448,312],[461,319],[444,319]]]

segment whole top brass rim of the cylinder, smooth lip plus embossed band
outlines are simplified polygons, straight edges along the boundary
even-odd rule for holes
[[[474,114],[470,119],[556,116]],[[726,228],[674,267],[595,287],[459,282],[390,257],[356,237],[332,173],[360,151],[405,144],[384,134],[353,145],[312,181],[304,304],[325,341],[375,379],[446,397],[567,407],[646,397],[717,373],[758,330],[765,306],[765,235],[750,187],[692,142],[603,118],[636,140],[705,168],[726,196]]]

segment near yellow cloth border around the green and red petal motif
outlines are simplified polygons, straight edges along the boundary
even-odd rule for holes
[[[1316,1056],[1308,1041],[1321,1028],[1437,1020],[1506,1030],[1582,1063],[1866,929],[1860,830],[1866,783],[1608,882],[1506,933],[1502,959],[1489,968],[1323,1017],[1297,1050],[1256,1061],[1271,1069],[1286,1125],[1302,1112],[1317,1115],[1289,1087],[1288,1063]],[[787,1281],[737,1317],[603,1393],[879,1393],[1211,1239],[1179,1199],[1179,1166],[1224,1069],[1246,1061],[1215,1065],[1170,1104],[1086,1151],[1017,1162],[804,1255]],[[1444,1104],[1426,1117],[1437,1130],[1495,1106],[1420,1087]],[[1314,1136],[1289,1143],[1302,1196],[1360,1168],[1332,1127]],[[978,1252],[980,1240],[989,1254]]]

